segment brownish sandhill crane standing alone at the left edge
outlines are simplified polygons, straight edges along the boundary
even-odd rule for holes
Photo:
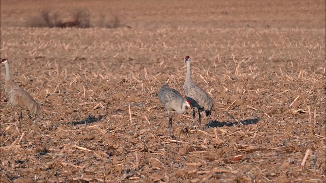
[[[7,59],[2,59],[1,63],[6,66],[5,91],[9,101],[12,106],[20,107],[21,109],[21,114],[19,116],[19,131],[21,131],[22,110],[26,110],[28,112],[28,117],[31,119],[31,115],[33,118],[37,118],[41,109],[33,97],[11,79],[9,61]]]

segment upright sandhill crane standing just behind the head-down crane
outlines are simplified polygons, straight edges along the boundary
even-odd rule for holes
[[[192,128],[194,128],[195,123],[195,109],[196,107],[198,109],[198,115],[199,115],[199,128],[201,130],[201,116],[200,112],[205,111],[206,116],[211,116],[214,108],[215,103],[214,100],[208,96],[208,94],[199,86],[196,85],[196,83],[191,78],[190,73],[190,57],[185,57],[185,63],[187,63],[187,73],[185,75],[185,84],[183,86],[185,91],[185,98],[187,100],[190,100],[191,106],[193,109],[193,120],[192,120]]]

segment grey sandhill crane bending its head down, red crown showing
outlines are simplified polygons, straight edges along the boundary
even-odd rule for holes
[[[185,112],[185,107],[190,107],[191,103],[189,100],[185,101],[181,93],[175,89],[170,88],[169,85],[163,85],[158,92],[157,97],[164,105],[165,109],[168,111],[170,137],[173,138],[174,135],[172,128],[172,116],[174,113],[170,113],[175,111],[179,114],[183,114]]]

